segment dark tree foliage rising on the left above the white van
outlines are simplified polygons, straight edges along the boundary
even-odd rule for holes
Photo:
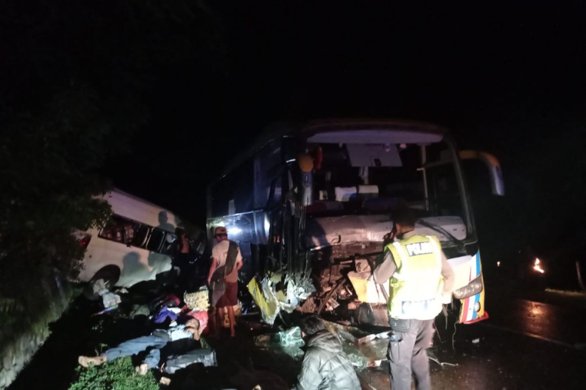
[[[83,248],[72,233],[110,213],[96,198],[110,187],[100,172],[152,126],[163,76],[186,58],[221,63],[216,24],[200,1],[6,2],[0,298],[15,302],[55,272],[76,274]]]

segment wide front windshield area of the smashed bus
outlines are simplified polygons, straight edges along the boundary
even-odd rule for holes
[[[450,145],[435,143],[307,143],[318,161],[312,216],[388,213],[408,207],[423,217],[467,223],[465,198]],[[320,161],[321,160],[321,161]]]

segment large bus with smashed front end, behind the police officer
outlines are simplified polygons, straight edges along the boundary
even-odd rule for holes
[[[370,264],[380,261],[393,210],[411,208],[415,230],[440,239],[455,271],[457,321],[473,323],[488,313],[461,167],[471,158],[486,164],[492,192],[503,195],[498,160],[458,151],[442,127],[399,120],[271,126],[210,184],[208,232],[226,226],[240,244],[241,279],[274,301],[271,313],[261,309],[265,321],[297,308],[387,325],[388,285],[374,284]]]

